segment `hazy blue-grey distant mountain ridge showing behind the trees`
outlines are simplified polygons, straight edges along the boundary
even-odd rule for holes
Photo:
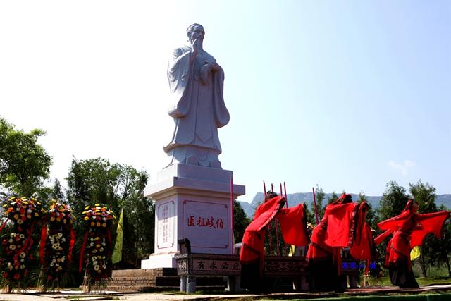
[[[329,199],[332,196],[332,193],[326,193],[325,194],[325,201],[327,203],[327,199]],[[337,193],[337,195],[339,195]],[[352,199],[355,201],[359,198],[358,194],[351,193]],[[310,204],[313,202],[313,193],[312,192],[299,192],[299,193],[292,193],[291,195],[288,195],[288,207],[295,206],[300,203],[307,204],[307,206],[310,208]],[[371,204],[371,207],[373,209],[376,209],[379,207],[379,202],[381,201],[381,196],[367,196],[366,200]],[[257,194],[254,196],[254,199],[252,199],[252,202],[240,202],[242,209],[245,211],[246,215],[249,216],[249,218],[252,219],[252,216],[254,215],[255,208],[263,202],[263,192],[257,192]],[[435,204],[437,206],[440,206],[440,204],[445,205],[447,208],[451,208],[451,195],[438,195],[435,198]]]

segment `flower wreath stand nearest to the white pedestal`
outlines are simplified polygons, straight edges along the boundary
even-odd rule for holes
[[[115,219],[113,211],[100,204],[95,204],[94,207],[87,206],[83,211],[87,231],[83,238],[79,271],[81,272],[85,266],[89,285],[101,284],[101,281],[111,278],[110,230]]]

